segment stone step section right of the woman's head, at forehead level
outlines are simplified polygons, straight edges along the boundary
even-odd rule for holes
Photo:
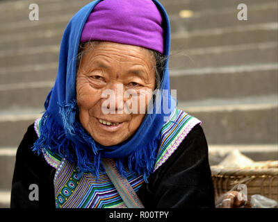
[[[275,63],[277,45],[277,42],[265,42],[172,51],[169,65],[171,69],[193,69]]]

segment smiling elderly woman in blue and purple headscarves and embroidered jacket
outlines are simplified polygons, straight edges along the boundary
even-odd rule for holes
[[[206,138],[172,103],[169,52],[156,0],[79,10],[17,150],[11,207],[214,207]]]

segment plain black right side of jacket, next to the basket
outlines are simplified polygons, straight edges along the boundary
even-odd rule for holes
[[[196,124],[190,130],[148,181],[140,190],[143,203],[155,207],[214,207],[208,147],[202,126]]]

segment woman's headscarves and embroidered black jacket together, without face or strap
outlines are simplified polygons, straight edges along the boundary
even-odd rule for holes
[[[126,7],[119,8],[120,3]],[[147,12],[139,7],[144,3],[149,4]],[[96,12],[99,17],[94,17]],[[102,12],[111,13],[112,20]],[[117,14],[119,26],[114,26],[112,12]],[[135,21],[120,17],[129,13]],[[138,21],[140,15],[143,26]],[[97,28],[101,21],[106,28]],[[128,35],[118,37],[117,28],[124,33],[122,27],[126,27]],[[141,32],[144,27],[146,30]],[[100,36],[92,37],[90,30],[95,28]],[[116,31],[105,35],[109,29]],[[157,44],[150,44],[148,37]],[[145,207],[214,207],[201,121],[172,105],[168,61],[160,89],[168,90],[170,112],[157,112],[154,105],[136,133],[115,146],[101,146],[85,132],[76,104],[76,56],[80,42],[92,40],[144,46],[169,56],[170,22],[156,0],[97,0],[76,13],[63,35],[58,75],[44,105],[46,112],[29,126],[17,150],[11,207],[126,207],[101,167],[102,158],[115,160],[118,171]],[[164,107],[163,103],[163,99],[158,101],[158,108]],[[39,187],[38,201],[28,198],[31,184]]]

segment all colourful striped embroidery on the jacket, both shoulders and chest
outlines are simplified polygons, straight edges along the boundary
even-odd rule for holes
[[[154,171],[176,151],[190,130],[200,123],[199,119],[191,117],[181,110],[175,110],[171,114],[170,120],[161,130],[161,144],[158,148]],[[34,128],[39,136],[40,119],[35,121]],[[54,176],[56,207],[126,207],[106,173],[100,173],[99,179],[92,173],[82,173],[75,164],[68,162],[60,155],[51,153],[50,149],[44,151],[44,159],[56,169]],[[142,176],[136,177],[133,172],[127,172],[126,179],[131,187],[138,191],[144,182]]]

